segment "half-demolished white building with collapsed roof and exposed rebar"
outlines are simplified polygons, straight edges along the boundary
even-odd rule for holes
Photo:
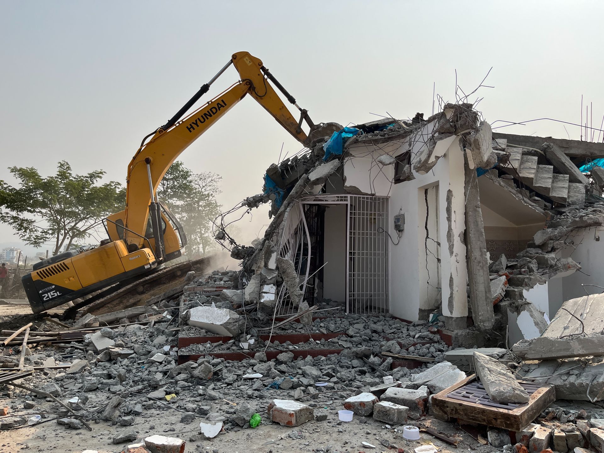
[[[541,335],[582,283],[601,281],[604,170],[577,165],[604,144],[493,133],[463,103],[334,130],[272,164],[265,192],[243,203],[271,202],[257,246],[233,250],[246,301],[269,315],[330,300],[439,316],[456,346],[502,346]],[[279,259],[296,275],[275,286]]]

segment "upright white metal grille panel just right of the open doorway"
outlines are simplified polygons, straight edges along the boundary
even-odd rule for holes
[[[388,199],[349,196],[348,313],[388,312]]]

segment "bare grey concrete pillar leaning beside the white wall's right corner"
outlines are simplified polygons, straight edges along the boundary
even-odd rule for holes
[[[464,165],[466,199],[467,275],[474,324],[480,330],[492,329],[495,321],[490,294],[489,261],[484,238],[483,213],[476,170]]]

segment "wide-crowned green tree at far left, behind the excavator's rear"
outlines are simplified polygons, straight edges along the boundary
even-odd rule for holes
[[[97,184],[103,170],[74,175],[66,161],[43,178],[33,167],[10,167],[19,184],[0,180],[0,222],[12,226],[28,245],[53,242],[53,255],[81,242],[108,214],[124,208],[126,189],[119,182]]]

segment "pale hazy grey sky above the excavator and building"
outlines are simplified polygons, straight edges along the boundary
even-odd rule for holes
[[[0,2],[0,179],[10,165],[53,173],[66,159],[125,182],[144,135],[164,124],[236,51],[249,51],[308,109],[341,124],[432,111],[454,100],[455,69],[487,121],[578,123],[604,114],[598,1]],[[207,99],[236,82],[228,69]],[[475,97],[472,98],[474,100]],[[289,106],[289,104],[288,104]],[[503,123],[498,123],[503,124]],[[498,125],[498,124],[495,124]],[[567,126],[571,138],[579,127]],[[567,138],[562,124],[501,129]],[[602,140],[602,139],[600,139]],[[268,165],[301,146],[246,98],[181,155],[222,175],[226,208],[259,193]],[[266,209],[240,222],[249,236]],[[0,225],[0,243],[13,242]]]

